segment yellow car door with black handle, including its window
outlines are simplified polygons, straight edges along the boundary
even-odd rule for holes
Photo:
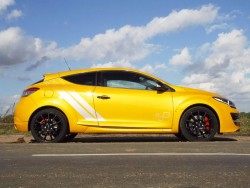
[[[99,126],[127,128],[172,127],[172,92],[164,84],[129,71],[104,71],[94,90]]]

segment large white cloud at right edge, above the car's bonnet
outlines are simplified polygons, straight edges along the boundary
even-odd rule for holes
[[[221,33],[206,44],[209,55],[204,63],[189,69],[182,80],[184,85],[220,93],[240,104],[250,103],[250,48],[243,30]],[[209,48],[210,49],[209,49]],[[199,73],[197,73],[199,71]]]

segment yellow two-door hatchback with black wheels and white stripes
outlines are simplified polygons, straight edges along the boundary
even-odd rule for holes
[[[23,91],[14,125],[37,142],[62,142],[77,133],[170,133],[208,141],[240,128],[232,101],[124,68],[45,74]]]

